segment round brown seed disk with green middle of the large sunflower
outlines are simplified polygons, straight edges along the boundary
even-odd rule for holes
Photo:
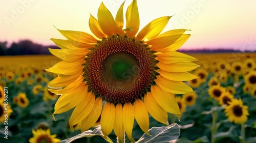
[[[104,38],[87,54],[84,81],[89,91],[107,102],[133,102],[155,85],[158,61],[154,53],[134,38]]]

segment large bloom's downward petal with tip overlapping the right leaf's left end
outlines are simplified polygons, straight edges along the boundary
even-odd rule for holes
[[[136,99],[134,102],[134,117],[139,124],[141,130],[146,134],[148,133],[148,127],[150,126],[150,121],[148,119],[148,114],[144,103],[140,99]]]

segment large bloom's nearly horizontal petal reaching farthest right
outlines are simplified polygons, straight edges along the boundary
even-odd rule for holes
[[[200,67],[197,64],[190,62],[177,62],[173,64],[157,63],[157,66],[166,72],[187,72]]]

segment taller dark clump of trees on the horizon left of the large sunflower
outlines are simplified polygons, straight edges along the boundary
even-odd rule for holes
[[[58,48],[57,46],[43,46],[30,40],[13,42],[10,47],[7,47],[7,42],[0,41],[0,55],[51,54],[48,47]]]

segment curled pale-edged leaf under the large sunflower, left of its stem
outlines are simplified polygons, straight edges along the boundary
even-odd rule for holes
[[[95,136],[95,135],[99,135],[99,136],[101,136],[101,137],[104,138],[104,135],[103,135],[103,133],[101,132],[101,127],[100,127],[100,125],[98,125],[98,126],[96,126],[96,127],[97,127],[97,128],[94,129],[94,130],[85,131],[85,132],[83,132],[83,133],[81,133],[81,134],[78,134],[78,135],[76,135],[76,136],[74,136],[74,137],[61,140],[60,142],[61,142],[61,143],[63,143],[63,142],[69,143],[69,142],[72,142],[72,141],[74,141],[74,140],[76,140],[76,139],[78,139],[78,138],[82,138],[82,137],[92,137],[92,136]],[[113,143],[112,140],[111,140],[108,136],[106,136],[105,140],[108,141],[108,142],[110,142],[110,143]]]

